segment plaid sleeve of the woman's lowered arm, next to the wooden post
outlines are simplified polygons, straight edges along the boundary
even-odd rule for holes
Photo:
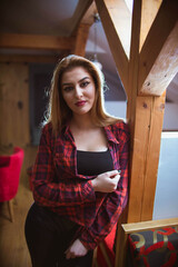
[[[99,241],[111,231],[118,221],[120,214],[126,207],[128,199],[128,159],[129,159],[129,131],[127,125],[122,125],[123,130],[119,130],[119,165],[121,169],[120,180],[117,190],[107,195],[102,202],[93,224],[89,228],[83,228],[79,239],[88,248],[93,249]],[[118,135],[117,135],[118,136]]]

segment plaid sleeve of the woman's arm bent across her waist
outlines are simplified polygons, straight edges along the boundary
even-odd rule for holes
[[[55,182],[56,172],[50,141],[51,136],[46,126],[42,130],[31,179],[36,202],[50,208],[93,202],[96,196],[91,181],[78,182],[75,179],[59,179]]]

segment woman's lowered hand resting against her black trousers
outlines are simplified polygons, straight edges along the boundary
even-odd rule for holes
[[[82,257],[88,253],[88,249],[82,245],[82,243],[77,239],[73,244],[66,250],[66,258]]]

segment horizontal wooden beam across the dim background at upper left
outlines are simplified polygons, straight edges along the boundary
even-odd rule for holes
[[[0,48],[70,50],[73,37],[1,33]]]

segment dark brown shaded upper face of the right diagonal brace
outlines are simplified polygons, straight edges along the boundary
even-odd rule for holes
[[[140,52],[139,91],[177,23],[177,0],[164,0]]]

